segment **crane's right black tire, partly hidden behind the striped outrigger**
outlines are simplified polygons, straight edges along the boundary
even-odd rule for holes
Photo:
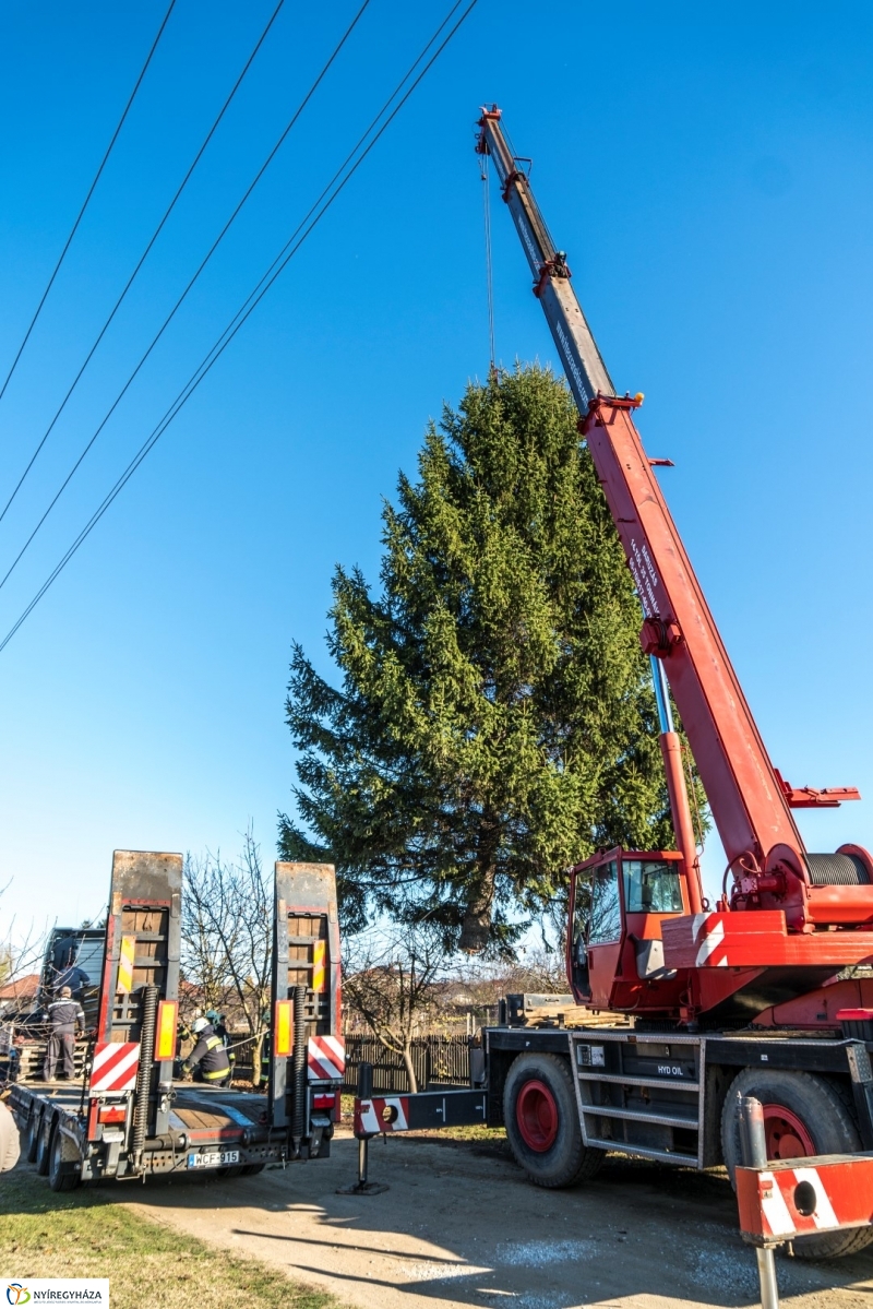
[[[814,1155],[857,1155],[863,1148],[852,1111],[836,1084],[806,1072],[746,1068],[728,1088],[721,1111],[721,1152],[732,1185],[741,1160],[739,1096],[754,1096],[762,1105],[787,1109],[802,1124]],[[801,1236],[793,1249],[801,1259],[839,1259],[863,1250],[870,1241],[873,1228],[847,1228]]]

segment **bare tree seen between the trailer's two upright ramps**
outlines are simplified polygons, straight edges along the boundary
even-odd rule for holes
[[[264,877],[251,827],[242,852],[188,855],[185,861],[182,971],[203,1008],[242,1020],[251,1037],[253,1081],[260,1081],[270,1026],[272,884]]]

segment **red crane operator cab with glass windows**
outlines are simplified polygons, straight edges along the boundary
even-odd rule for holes
[[[577,1003],[674,1013],[687,975],[665,967],[661,923],[688,912],[678,851],[610,850],[572,868],[568,975]]]

